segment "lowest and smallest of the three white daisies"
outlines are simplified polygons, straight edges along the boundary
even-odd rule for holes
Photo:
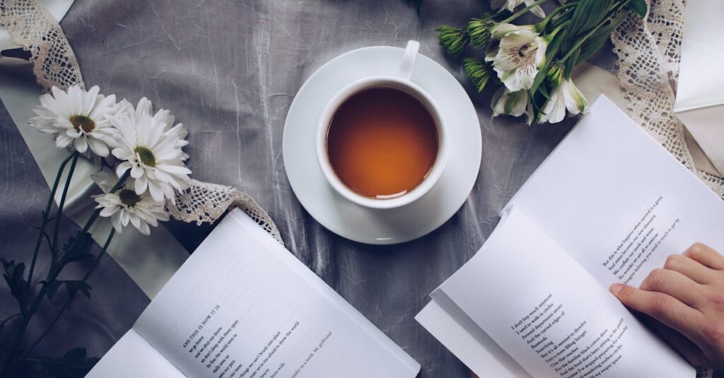
[[[138,195],[130,185],[124,185],[116,193],[107,193],[118,181],[113,173],[104,170],[91,176],[105,194],[93,196],[101,210],[101,217],[110,217],[116,232],[123,232],[129,223],[143,235],[151,233],[149,225],[156,227],[160,221],[169,220],[163,202],[153,201],[148,193]]]

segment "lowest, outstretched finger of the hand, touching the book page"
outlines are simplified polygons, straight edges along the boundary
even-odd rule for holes
[[[692,341],[700,340],[701,324],[704,314],[686,306],[683,302],[664,293],[636,289],[629,285],[613,284],[611,293],[616,295],[624,306],[657,319],[659,322],[683,333]]]

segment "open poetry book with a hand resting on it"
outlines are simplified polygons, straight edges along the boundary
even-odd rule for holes
[[[694,242],[724,201],[601,97],[416,317],[484,377],[694,377],[608,292]]]

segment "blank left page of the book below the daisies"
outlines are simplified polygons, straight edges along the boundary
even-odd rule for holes
[[[186,377],[133,329],[106,352],[86,378]]]

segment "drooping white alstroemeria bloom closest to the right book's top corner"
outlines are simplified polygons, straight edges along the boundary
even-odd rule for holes
[[[547,80],[551,88],[550,95],[542,112],[537,116],[537,122],[557,123],[565,118],[566,110],[573,115],[586,111],[588,101],[583,93],[578,91],[573,80],[570,77],[564,77],[560,64],[551,67]]]

